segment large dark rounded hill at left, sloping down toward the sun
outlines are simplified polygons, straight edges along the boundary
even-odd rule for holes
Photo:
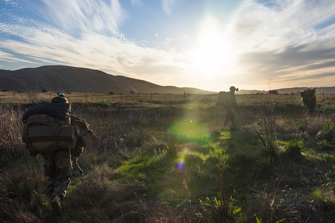
[[[0,89],[17,91],[36,85],[41,91],[45,89],[51,92],[217,93],[197,88],[160,86],[147,81],[110,75],[99,70],[60,65],[24,68],[16,71],[0,69]]]

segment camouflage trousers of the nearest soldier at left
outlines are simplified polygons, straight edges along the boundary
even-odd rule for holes
[[[59,195],[64,199],[66,190],[71,181],[71,170],[60,170],[57,168],[58,152],[43,153],[44,175],[48,177],[46,182],[46,196],[54,198]]]

